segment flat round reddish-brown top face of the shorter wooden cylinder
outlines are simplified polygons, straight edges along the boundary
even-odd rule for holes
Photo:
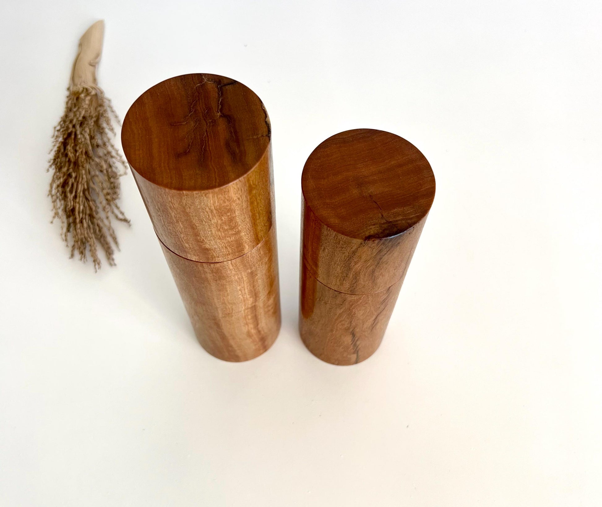
[[[382,239],[426,216],[435,198],[435,176],[405,139],[356,129],[329,137],[309,155],[301,188],[325,226],[350,238]]]

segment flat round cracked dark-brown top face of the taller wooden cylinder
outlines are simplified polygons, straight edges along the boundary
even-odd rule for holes
[[[212,74],[186,74],[141,94],[123,120],[129,164],[174,190],[209,190],[248,173],[270,143],[270,118],[245,85]]]

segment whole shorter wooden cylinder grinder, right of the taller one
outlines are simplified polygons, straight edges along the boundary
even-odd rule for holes
[[[302,180],[299,331],[318,358],[355,364],[382,340],[435,198],[424,155],[389,132],[321,143]]]

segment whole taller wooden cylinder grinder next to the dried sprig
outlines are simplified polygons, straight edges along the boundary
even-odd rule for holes
[[[145,91],[123,152],[200,345],[226,361],[280,329],[272,129],[240,82],[188,74]]]

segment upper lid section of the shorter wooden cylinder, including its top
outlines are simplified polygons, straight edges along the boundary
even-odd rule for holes
[[[373,129],[341,132],[311,153],[301,186],[303,257],[318,280],[374,293],[403,277],[409,236],[435,198],[433,171],[413,144]]]

